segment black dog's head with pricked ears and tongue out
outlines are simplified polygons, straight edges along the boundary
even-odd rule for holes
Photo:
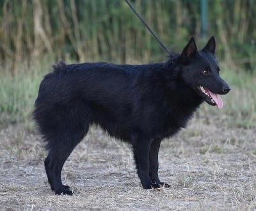
[[[194,38],[191,38],[176,62],[181,66],[182,80],[209,105],[222,108],[223,101],[218,94],[227,94],[230,86],[220,77],[215,48],[214,36],[199,51]]]

